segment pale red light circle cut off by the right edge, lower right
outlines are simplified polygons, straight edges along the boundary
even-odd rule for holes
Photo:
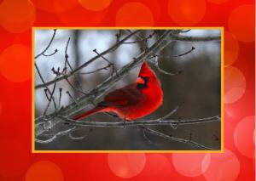
[[[236,149],[243,156],[254,157],[253,132],[255,126],[255,116],[247,116],[236,125],[234,131],[234,142]]]

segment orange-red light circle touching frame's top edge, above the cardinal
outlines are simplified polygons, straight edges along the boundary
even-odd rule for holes
[[[125,3],[116,14],[115,25],[150,26],[154,25],[154,17],[150,8],[143,3]]]

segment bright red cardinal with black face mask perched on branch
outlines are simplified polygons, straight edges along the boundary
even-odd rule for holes
[[[96,112],[114,112],[127,121],[148,115],[156,110],[163,100],[160,81],[146,62],[143,63],[137,82],[124,88],[114,90],[100,102],[96,108],[82,115],[75,116],[79,120]]]

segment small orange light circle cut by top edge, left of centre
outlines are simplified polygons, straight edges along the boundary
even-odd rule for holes
[[[108,8],[111,2],[112,0],[79,0],[81,6],[91,11],[100,11],[104,8]]]

